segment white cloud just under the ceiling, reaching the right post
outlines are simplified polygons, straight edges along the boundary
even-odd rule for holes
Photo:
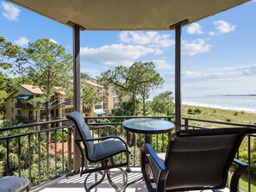
[[[169,47],[174,45],[170,34],[159,34],[158,32],[134,32],[123,31],[119,34],[119,40],[141,46]]]

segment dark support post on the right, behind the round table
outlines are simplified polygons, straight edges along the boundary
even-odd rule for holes
[[[175,125],[181,129],[182,102],[181,102],[181,25],[175,25]]]

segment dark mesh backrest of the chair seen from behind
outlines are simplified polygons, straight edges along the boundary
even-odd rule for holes
[[[225,188],[228,169],[249,128],[181,130],[165,157],[166,190]]]

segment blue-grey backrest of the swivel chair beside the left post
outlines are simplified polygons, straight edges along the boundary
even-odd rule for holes
[[[80,135],[81,139],[90,139],[91,138],[91,131],[87,124],[84,121],[83,115],[78,113],[78,111],[72,112],[70,115],[67,115],[66,118],[72,120],[78,129],[78,133]],[[86,145],[87,148],[87,154],[88,158],[92,158],[93,150],[94,150],[94,144],[92,141],[86,141],[84,142],[84,146]]]

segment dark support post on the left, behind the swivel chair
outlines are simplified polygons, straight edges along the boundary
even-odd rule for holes
[[[73,26],[73,89],[74,110],[81,112],[81,79],[80,79],[80,28],[77,24]],[[78,130],[74,131],[74,138],[79,139]],[[74,146],[74,172],[80,171],[80,151]]]

